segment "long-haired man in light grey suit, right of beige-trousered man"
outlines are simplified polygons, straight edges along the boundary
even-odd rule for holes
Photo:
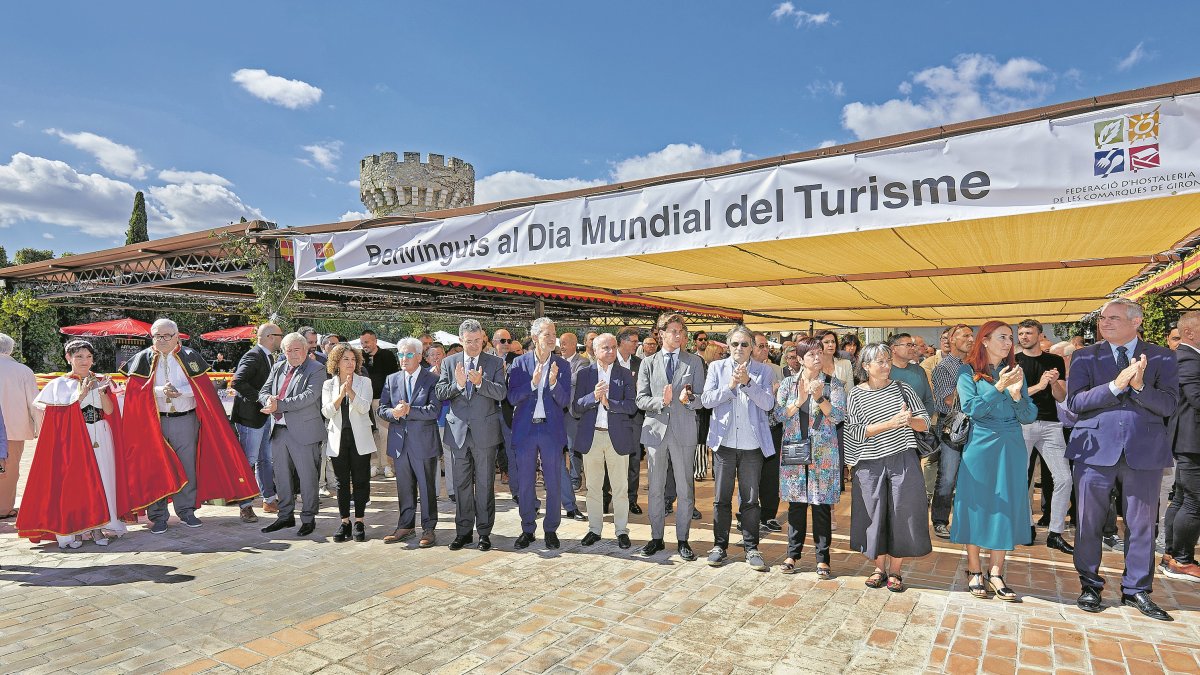
[[[662,350],[643,360],[637,371],[637,407],[646,411],[642,444],[649,458],[647,479],[650,489],[650,540],[641,552],[648,557],[665,548],[664,492],[670,456],[679,497],[679,508],[676,510],[679,557],[692,561],[696,560],[696,554],[688,543],[688,532],[696,503],[696,411],[702,406],[700,395],[704,390],[704,362],[683,350],[688,341],[688,327],[682,316],[662,315],[658,328]]]

